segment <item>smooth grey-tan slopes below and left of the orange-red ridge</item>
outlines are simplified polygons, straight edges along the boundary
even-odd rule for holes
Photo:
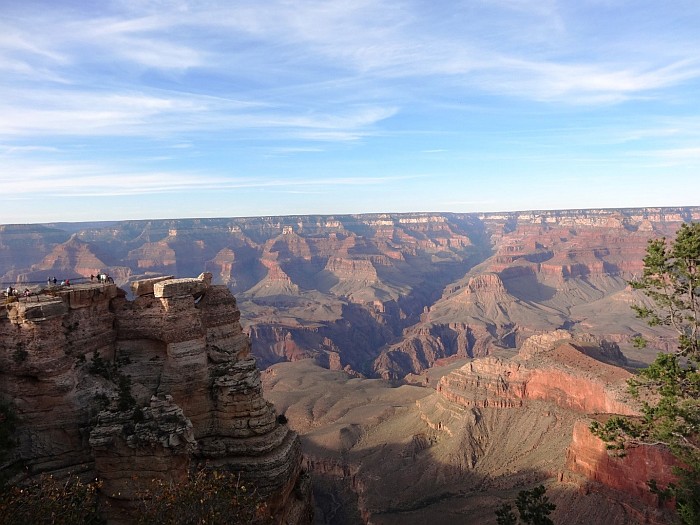
[[[647,354],[634,357],[647,360]],[[492,524],[497,507],[540,483],[557,505],[555,523],[645,519],[633,499],[598,490],[567,470],[574,424],[586,414],[537,400],[465,408],[436,392],[443,376],[471,361],[452,360],[409,378],[418,384],[398,387],[313,360],[263,372],[266,398],[301,436],[316,523]],[[661,515],[647,518],[663,522]]]

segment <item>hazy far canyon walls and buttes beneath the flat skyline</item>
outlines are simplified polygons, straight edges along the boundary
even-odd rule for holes
[[[100,269],[126,286],[205,268],[261,335],[253,352],[262,366],[316,356],[398,379],[558,328],[623,347],[643,334],[664,349],[673,337],[634,318],[629,304],[641,299],[627,280],[649,239],[693,220],[698,207],[3,226],[0,281]]]

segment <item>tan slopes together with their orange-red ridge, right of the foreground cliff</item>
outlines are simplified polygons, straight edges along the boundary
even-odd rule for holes
[[[540,483],[555,523],[669,523],[646,485],[673,479],[668,451],[615,457],[588,431],[592,417],[638,413],[625,362],[614,343],[558,330],[398,388],[310,360],[278,363],[263,381],[301,434],[325,523],[493,523]]]

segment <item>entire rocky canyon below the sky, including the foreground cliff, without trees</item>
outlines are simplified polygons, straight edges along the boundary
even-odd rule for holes
[[[627,281],[650,239],[699,220],[687,207],[0,226],[3,288],[35,294],[0,314],[0,395],[32,472],[122,487],[124,462],[238,464],[280,523],[308,516],[307,473],[317,523],[490,524],[540,483],[555,523],[667,523],[646,482],[673,479],[668,451],[615,457],[588,426],[639,414],[625,382],[675,337],[635,318],[645,298]],[[95,354],[121,360],[150,424],[123,442],[126,416],[94,400],[118,395],[86,372]]]

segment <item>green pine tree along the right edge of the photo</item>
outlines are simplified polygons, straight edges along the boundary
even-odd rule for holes
[[[613,417],[604,425],[594,422],[591,431],[608,442],[608,448],[624,455],[630,442],[665,444],[679,461],[678,482],[659,487],[662,498],[672,497],[680,520],[700,523],[700,223],[684,224],[676,238],[649,241],[644,272],[630,285],[642,291],[653,307],[633,306],[637,316],[651,326],[672,327],[678,349],[659,354],[656,360],[630,380],[630,393],[646,398],[642,418]],[[644,346],[640,337],[636,344]]]

